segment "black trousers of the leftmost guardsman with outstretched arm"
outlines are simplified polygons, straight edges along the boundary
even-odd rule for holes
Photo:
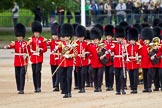
[[[25,66],[15,66],[15,78],[18,91],[24,91]]]

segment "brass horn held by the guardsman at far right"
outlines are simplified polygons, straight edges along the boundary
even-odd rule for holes
[[[152,39],[152,42],[149,44],[149,57],[152,57],[152,56],[155,56],[157,51],[158,51],[158,48],[160,46],[160,38],[159,37],[154,37]],[[152,64],[155,65],[155,64],[158,64],[159,63],[159,60],[160,58],[157,58],[155,56],[155,58],[153,60],[151,60]]]

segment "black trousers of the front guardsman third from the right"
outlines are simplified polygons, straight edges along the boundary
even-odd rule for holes
[[[129,79],[131,90],[137,90],[138,85],[138,69],[129,70]]]

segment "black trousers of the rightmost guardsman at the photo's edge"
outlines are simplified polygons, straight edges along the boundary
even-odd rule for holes
[[[153,68],[153,73],[154,73],[154,86],[155,88],[158,88],[160,87],[160,82],[159,82],[159,72],[160,72],[160,68]]]

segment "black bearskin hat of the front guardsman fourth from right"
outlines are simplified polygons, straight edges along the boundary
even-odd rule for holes
[[[116,38],[124,38],[125,37],[125,31],[124,31],[124,28],[121,27],[121,26],[116,26],[115,28],[116,30]]]

